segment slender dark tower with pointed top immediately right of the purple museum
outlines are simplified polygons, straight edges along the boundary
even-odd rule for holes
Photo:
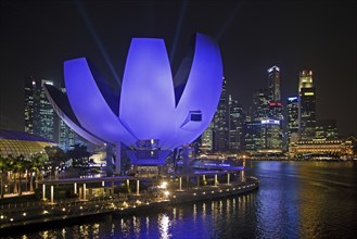
[[[221,89],[221,95],[218,103],[217,111],[214,116],[214,151],[227,151],[229,129],[228,129],[228,95],[226,89],[226,79],[224,79],[224,85]]]

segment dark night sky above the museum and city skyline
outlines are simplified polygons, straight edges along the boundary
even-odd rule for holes
[[[1,1],[0,127],[23,130],[24,79],[63,81],[63,61],[87,56],[120,80],[132,37],[164,38],[171,67],[192,34],[220,46],[228,91],[245,110],[281,70],[283,99],[314,71],[317,120],[357,135],[356,1]]]

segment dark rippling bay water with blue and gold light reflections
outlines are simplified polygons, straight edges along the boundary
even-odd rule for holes
[[[245,196],[25,232],[16,238],[357,238],[357,163],[250,162]]]

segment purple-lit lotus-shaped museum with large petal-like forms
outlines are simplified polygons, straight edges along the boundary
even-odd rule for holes
[[[164,40],[133,38],[120,90],[110,87],[86,58],[64,62],[64,79],[66,93],[44,87],[72,129],[116,152],[120,142],[126,144],[133,165],[157,165],[209,125],[220,97],[222,62],[217,42],[196,34],[173,77]]]

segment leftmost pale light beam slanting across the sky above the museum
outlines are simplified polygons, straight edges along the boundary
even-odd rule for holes
[[[86,24],[86,26],[87,26],[87,28],[88,28],[90,35],[91,35],[92,38],[94,39],[94,42],[97,43],[97,46],[98,46],[100,52],[102,53],[102,55],[103,55],[103,58],[104,58],[104,60],[105,60],[107,66],[110,67],[110,71],[111,71],[111,73],[112,73],[112,75],[113,75],[115,81],[116,81],[116,83],[118,84],[118,86],[120,87],[120,86],[122,86],[120,77],[119,77],[118,74],[115,72],[114,66],[113,66],[113,64],[112,64],[112,61],[111,61],[110,56],[107,55],[107,53],[106,53],[106,51],[105,51],[105,48],[104,48],[104,46],[103,46],[101,39],[99,38],[99,35],[97,34],[97,32],[95,32],[95,29],[94,29],[94,27],[93,27],[93,24],[91,23],[90,18],[88,17],[87,12],[86,12],[86,10],[85,10],[85,8],[84,8],[81,1],[80,1],[80,0],[76,0],[75,3],[76,3],[76,7],[77,7],[77,9],[78,9],[78,11],[79,11],[79,13],[80,13],[80,16],[81,16],[81,18],[84,20],[84,22],[85,22],[85,24]]]

